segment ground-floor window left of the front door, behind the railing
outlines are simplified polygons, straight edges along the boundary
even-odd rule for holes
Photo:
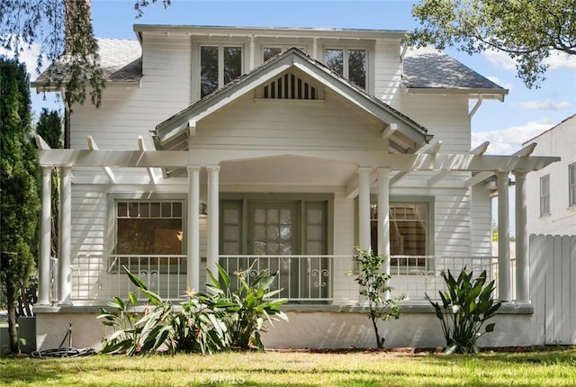
[[[116,202],[116,255],[180,256],[183,254],[183,236],[183,202]],[[162,264],[179,262],[178,257],[166,257]]]

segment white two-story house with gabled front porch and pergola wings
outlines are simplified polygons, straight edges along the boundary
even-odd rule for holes
[[[464,266],[498,277],[496,332],[483,345],[533,343],[527,248],[509,261],[509,174],[557,161],[471,148],[482,100],[507,90],[406,31],[135,25],[99,40],[100,109],[74,106],[71,149],[39,139],[44,171],[37,342],[99,347],[98,308],[138,273],[165,299],[203,290],[205,269],[278,271],[290,322],[267,347],[368,347],[354,247],[392,256],[401,320],[390,347],[444,345],[424,294]],[[49,88],[47,74],[34,83]],[[473,101],[473,108],[469,103]],[[57,270],[50,271],[49,172],[61,170]],[[491,257],[490,185],[500,187]],[[520,178],[518,178],[518,176]],[[490,180],[490,179],[489,179]],[[525,211],[518,190],[517,213]],[[517,239],[527,238],[517,227]],[[521,245],[525,246],[525,245]],[[352,275],[350,275],[352,273]],[[50,279],[54,278],[51,283]]]

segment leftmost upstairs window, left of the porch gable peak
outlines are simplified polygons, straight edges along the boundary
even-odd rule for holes
[[[242,75],[242,48],[214,45],[200,48],[201,97]]]

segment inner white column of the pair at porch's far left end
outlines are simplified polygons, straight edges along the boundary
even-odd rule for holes
[[[70,224],[72,220],[72,167],[60,168],[60,214],[58,227],[58,305],[71,305]]]

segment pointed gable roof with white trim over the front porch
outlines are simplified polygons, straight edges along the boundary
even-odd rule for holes
[[[297,48],[292,48],[271,58],[251,72],[239,76],[228,85],[214,93],[205,96],[202,100],[193,103],[181,112],[166,121],[159,123],[152,135],[157,149],[162,149],[168,142],[182,142],[190,121],[200,121],[217,112],[223,106],[233,102],[240,96],[263,85],[266,81],[283,73],[288,68],[295,67],[306,76],[310,76],[330,91],[352,103],[360,110],[367,112],[374,118],[385,123],[385,126],[396,124],[398,130],[393,130],[392,143],[401,148],[402,153],[413,152],[432,139],[428,130],[413,121],[410,117],[383,103],[374,95],[368,94],[364,89],[339,76]],[[179,138],[179,139],[178,139]]]

